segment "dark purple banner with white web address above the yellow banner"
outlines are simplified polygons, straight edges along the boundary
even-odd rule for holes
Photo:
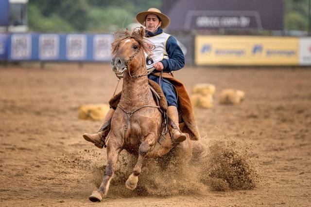
[[[169,30],[283,29],[283,0],[165,0]]]

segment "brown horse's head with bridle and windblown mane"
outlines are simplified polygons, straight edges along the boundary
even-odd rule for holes
[[[111,66],[113,72],[118,77],[121,77],[125,70],[131,68],[134,70],[139,66],[145,67],[145,55],[150,52],[144,39],[145,30],[140,27],[140,30],[119,31],[115,33],[115,40],[111,44],[112,48],[112,61]],[[135,74],[134,71],[131,71]]]

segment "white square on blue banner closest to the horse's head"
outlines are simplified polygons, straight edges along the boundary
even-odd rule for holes
[[[95,60],[111,60],[112,35],[94,35],[93,56]]]

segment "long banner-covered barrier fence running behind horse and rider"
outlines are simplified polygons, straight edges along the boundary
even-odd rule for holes
[[[175,36],[186,63],[311,65],[311,38]],[[111,34],[0,34],[0,60],[109,62]]]

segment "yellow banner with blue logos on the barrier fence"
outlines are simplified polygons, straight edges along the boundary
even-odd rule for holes
[[[298,38],[196,36],[196,65],[298,65]]]

